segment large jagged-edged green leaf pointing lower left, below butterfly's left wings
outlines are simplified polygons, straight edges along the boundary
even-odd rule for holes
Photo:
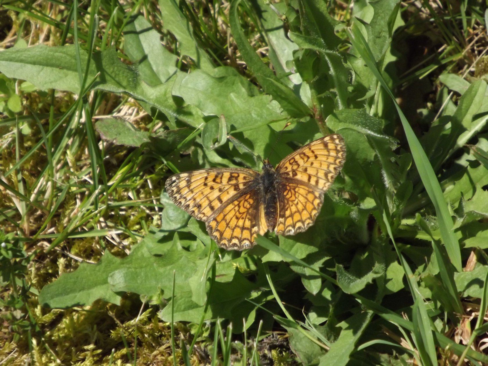
[[[41,290],[41,304],[48,307],[72,307],[91,305],[96,299],[119,304],[120,292],[135,292],[155,296],[163,291],[169,298],[173,285],[191,293],[191,298],[203,305],[205,297],[205,268],[208,259],[200,243],[194,251],[183,249],[180,241],[161,243],[153,235],[147,235],[135,245],[130,254],[118,259],[106,251],[98,264],[81,264],[80,267],[61,277]],[[157,245],[157,246],[156,246]],[[150,249],[165,248],[164,254],[154,255]],[[211,263],[210,263],[211,265]],[[202,288],[203,287],[203,288]]]

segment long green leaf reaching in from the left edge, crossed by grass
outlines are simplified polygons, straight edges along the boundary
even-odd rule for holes
[[[24,49],[10,48],[0,52],[0,72],[10,78],[32,82],[42,90],[52,88],[79,93],[80,78],[76,62],[73,62],[76,57],[74,45],[47,47],[41,44]],[[91,57],[87,80],[95,80],[92,89],[129,93],[141,103],[154,105],[170,120],[178,118],[194,127],[204,124],[197,108],[178,105],[173,100],[172,89],[178,74],[152,87],[140,80],[137,70],[123,64],[112,48],[96,51]],[[86,52],[80,51],[80,59],[81,68],[86,68]]]

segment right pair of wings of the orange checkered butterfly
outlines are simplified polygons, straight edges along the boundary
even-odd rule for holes
[[[346,145],[333,134],[310,142],[288,155],[276,167],[278,185],[277,234],[305,231],[317,218],[324,193],[346,161]]]

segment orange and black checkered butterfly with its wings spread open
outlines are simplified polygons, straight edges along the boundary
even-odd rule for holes
[[[294,151],[276,169],[265,160],[261,173],[193,170],[169,177],[165,188],[178,207],[205,223],[220,247],[244,250],[267,230],[294,235],[310,227],[345,161],[344,139],[332,134]]]

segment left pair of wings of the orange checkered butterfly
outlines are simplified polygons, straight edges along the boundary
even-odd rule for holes
[[[219,246],[244,250],[254,245],[257,233],[267,230],[256,189],[258,176],[250,169],[201,169],[173,175],[165,187],[178,207],[205,222]]]

